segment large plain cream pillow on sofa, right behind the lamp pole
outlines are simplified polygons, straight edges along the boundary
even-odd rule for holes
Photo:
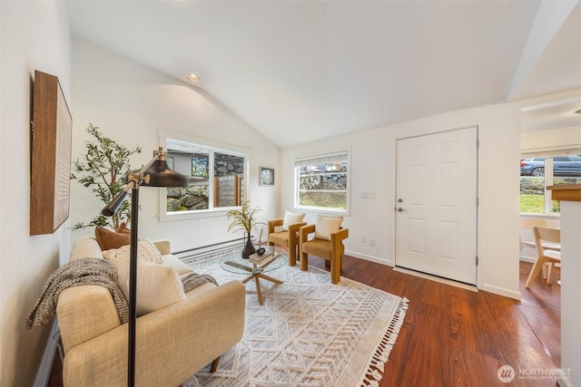
[[[107,260],[117,269],[117,285],[129,301],[129,259],[110,256]],[[136,296],[137,315],[148,314],[185,299],[182,280],[172,267],[141,259],[137,260]]]

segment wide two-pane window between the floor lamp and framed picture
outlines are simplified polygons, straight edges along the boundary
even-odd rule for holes
[[[173,169],[188,178],[187,189],[167,189],[166,213],[241,206],[245,198],[246,156],[230,150],[167,139]]]

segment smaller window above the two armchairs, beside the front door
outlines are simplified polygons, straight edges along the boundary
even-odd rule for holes
[[[295,207],[349,213],[349,150],[295,159]]]

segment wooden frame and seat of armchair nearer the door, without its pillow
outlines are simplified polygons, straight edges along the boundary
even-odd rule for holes
[[[330,282],[339,284],[342,266],[342,256],[345,252],[343,239],[349,237],[349,228],[341,228],[336,233],[330,234],[330,240],[309,239],[309,235],[315,232],[315,225],[300,227],[299,251],[300,270],[309,269],[309,255],[319,256],[330,261]]]

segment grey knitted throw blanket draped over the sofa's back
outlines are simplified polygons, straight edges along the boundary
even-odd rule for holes
[[[44,283],[41,295],[26,318],[26,329],[32,330],[48,324],[56,313],[58,296],[71,286],[100,285],[111,292],[121,324],[129,321],[127,301],[117,285],[117,270],[102,258],[75,259],[54,270]]]

